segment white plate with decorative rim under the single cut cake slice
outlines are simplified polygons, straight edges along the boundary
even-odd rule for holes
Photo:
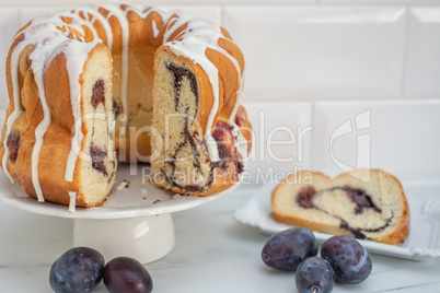
[[[291,227],[271,216],[270,194],[274,186],[264,186],[242,208],[234,219],[243,224],[274,234]],[[359,241],[369,251],[412,260],[427,260],[440,257],[440,189],[439,185],[405,187],[410,211],[410,232],[403,246],[393,246],[370,241]],[[427,194],[431,192],[431,194]],[[439,196],[436,196],[437,195]],[[430,197],[427,195],[431,195]],[[323,243],[332,235],[314,232],[316,241]]]

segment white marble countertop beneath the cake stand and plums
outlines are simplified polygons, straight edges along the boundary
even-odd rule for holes
[[[294,274],[266,267],[268,236],[235,222],[233,212],[255,194],[240,188],[173,214],[176,246],[147,265],[153,292],[297,292]],[[27,213],[0,203],[0,292],[51,292],[54,260],[72,247],[73,220]],[[440,258],[425,262],[372,255],[373,270],[358,285],[333,292],[440,292]],[[106,292],[104,285],[92,292]]]

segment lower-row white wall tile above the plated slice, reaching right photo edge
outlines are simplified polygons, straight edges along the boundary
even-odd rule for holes
[[[370,166],[405,181],[440,179],[438,99],[319,102],[313,117],[314,169],[334,176]]]

